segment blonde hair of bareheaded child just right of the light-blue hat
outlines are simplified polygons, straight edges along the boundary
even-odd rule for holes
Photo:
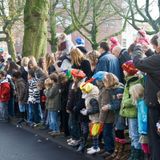
[[[120,84],[118,78],[112,73],[106,74],[105,79],[103,80],[103,83],[105,88],[107,89],[114,88]]]

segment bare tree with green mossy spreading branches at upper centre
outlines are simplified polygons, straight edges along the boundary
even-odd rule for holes
[[[65,32],[78,31],[90,42],[93,49],[97,49],[98,43],[102,40],[98,41],[98,39],[100,39],[98,35],[101,26],[110,21],[121,20],[121,17],[116,14],[109,0],[61,1],[71,21],[68,27],[65,27]],[[65,17],[65,19],[66,18],[67,17]],[[122,29],[114,33],[114,35],[118,35],[124,31],[125,26],[126,19],[124,19]],[[108,37],[109,36],[106,36],[106,38]]]

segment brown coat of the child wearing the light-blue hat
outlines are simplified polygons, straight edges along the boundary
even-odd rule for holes
[[[111,103],[110,92],[108,89],[103,88],[100,91],[100,95],[99,95],[99,106],[100,106],[99,120],[100,122],[114,123],[115,121],[114,111],[113,110],[102,111],[102,107],[110,103]]]

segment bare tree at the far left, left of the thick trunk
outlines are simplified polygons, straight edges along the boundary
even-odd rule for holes
[[[16,50],[12,29],[14,24],[22,19],[24,0],[0,0],[0,22],[2,24],[2,34],[0,41],[5,41],[9,54],[15,59]]]

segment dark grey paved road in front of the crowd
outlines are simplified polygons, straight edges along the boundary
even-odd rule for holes
[[[39,138],[42,140],[41,143],[37,142]],[[87,160],[87,158],[23,129],[0,123],[0,160]]]

